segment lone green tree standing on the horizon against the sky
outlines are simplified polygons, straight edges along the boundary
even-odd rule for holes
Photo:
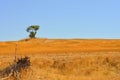
[[[29,37],[30,38],[35,38],[35,35],[37,33],[37,31],[39,30],[40,26],[39,25],[31,25],[29,26],[26,31],[29,32]]]

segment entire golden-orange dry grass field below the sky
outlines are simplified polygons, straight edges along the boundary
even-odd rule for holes
[[[0,70],[29,56],[22,80],[120,80],[120,40],[24,39],[0,42]],[[8,80],[12,80],[8,79]]]

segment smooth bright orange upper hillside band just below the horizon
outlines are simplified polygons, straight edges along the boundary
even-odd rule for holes
[[[107,39],[25,39],[0,42],[0,54],[119,52],[120,40]]]

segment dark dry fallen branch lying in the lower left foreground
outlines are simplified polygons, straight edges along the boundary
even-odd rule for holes
[[[20,73],[30,67],[30,58],[25,56],[24,58],[18,58],[16,62],[0,71],[0,77],[2,80],[8,79],[10,76],[20,80]]]

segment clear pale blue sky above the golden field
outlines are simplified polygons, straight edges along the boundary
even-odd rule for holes
[[[28,38],[120,39],[120,0],[0,0],[0,41]]]

